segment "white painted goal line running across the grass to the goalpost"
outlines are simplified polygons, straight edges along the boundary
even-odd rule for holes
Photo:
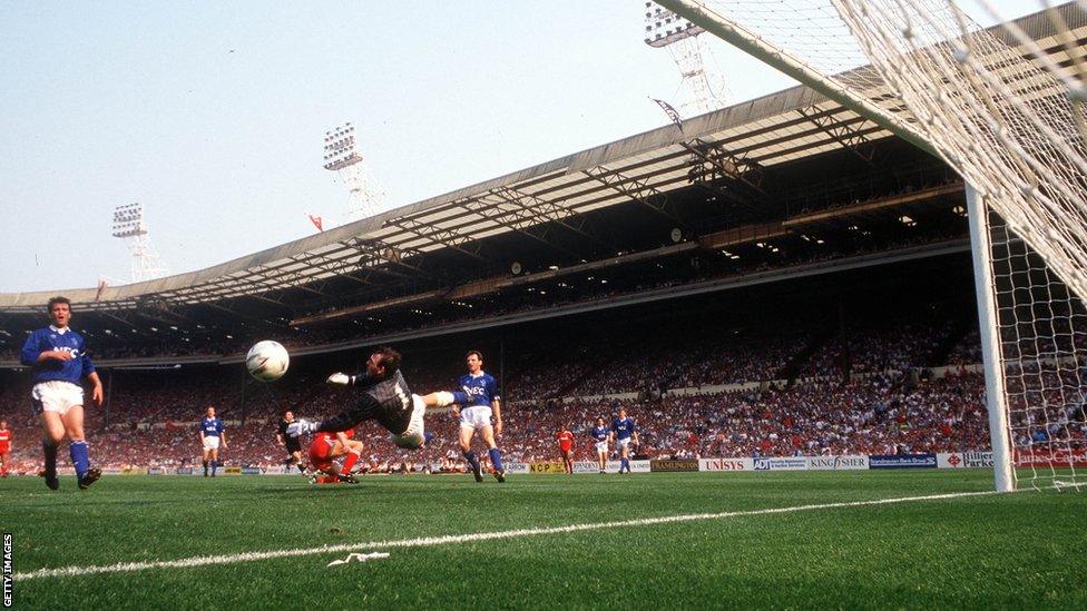
[[[296,548],[293,550],[273,550],[268,552],[245,552],[228,555],[198,555],[179,560],[163,560],[155,562],[121,562],[98,566],[63,566],[60,569],[38,569],[29,573],[16,573],[16,581],[42,579],[53,576],[81,576],[102,573],[131,573],[151,569],[188,569],[193,566],[208,566],[214,564],[236,564],[239,562],[256,562],[277,558],[294,558],[300,555],[317,555],[327,553],[359,552],[365,550],[389,550],[392,548],[431,548],[450,543],[470,543],[476,541],[491,541],[496,539],[516,539],[540,534],[562,534],[580,531],[598,531],[627,526],[650,526],[654,524],[674,524],[677,522],[695,522],[705,520],[722,520],[725,518],[743,518],[748,515],[767,515],[775,513],[797,513],[841,507],[863,507],[872,505],[893,505],[917,501],[940,501],[963,496],[986,496],[997,494],[985,492],[953,492],[948,494],[930,494],[926,496],[901,496],[898,499],[879,499],[874,501],[849,501],[842,503],[823,503],[817,505],[796,505],[792,507],[772,507],[747,511],[725,511],[721,513],[687,513],[680,515],[664,515],[660,518],[643,518],[638,520],[621,520],[616,522],[593,522],[588,524],[570,524],[567,526],[549,526],[539,529],[519,529],[513,531],[479,532],[471,534],[447,534],[443,536],[421,536],[418,539],[401,539],[395,541],[371,541],[369,543],[342,543],[339,545],[321,545],[320,548]]]

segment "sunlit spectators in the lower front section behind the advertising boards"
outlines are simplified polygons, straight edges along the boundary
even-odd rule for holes
[[[512,461],[555,457],[555,434],[569,426],[580,442],[576,451],[590,459],[591,423],[597,416],[610,422],[620,408],[636,418],[642,437],[640,453],[649,457],[789,456],[817,454],[885,454],[895,452],[946,452],[988,446],[982,401],[985,384],[979,374],[949,375],[910,383],[902,376],[875,376],[842,385],[801,384],[791,388],[737,391],[711,395],[665,396],[644,400],[568,400],[507,405],[502,449]],[[296,413],[319,417],[329,405],[297,404]],[[186,466],[198,464],[200,411],[177,414],[178,420],[151,426],[115,424],[101,427],[101,415],[89,411],[88,428],[99,464]],[[282,464],[283,451],[275,443],[278,421],[262,414],[242,425],[236,413],[224,410],[231,464]],[[180,418],[188,418],[182,421]],[[1060,432],[1083,438],[1083,416],[1074,426],[1067,418]],[[1057,420],[1055,418],[1055,422]],[[29,424],[29,426],[28,426]],[[408,452],[388,442],[386,432],[372,424],[359,430],[366,444],[364,459],[374,467],[411,462],[435,465],[456,463],[458,422],[449,412],[428,415],[434,441]],[[16,462],[37,464],[39,447],[32,422],[16,423]],[[1056,432],[1056,430],[1054,430]]]

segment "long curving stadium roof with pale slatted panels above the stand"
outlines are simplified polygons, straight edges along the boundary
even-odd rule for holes
[[[1062,11],[1083,47],[1085,12],[1068,6]],[[1044,14],[1022,18],[1019,26],[1067,63]],[[822,95],[794,87],[688,119],[682,130],[668,125],[197,272],[63,293],[92,309],[198,304],[374,268],[411,274],[420,255],[441,249],[482,259],[479,240],[499,234],[547,242],[544,228],[557,226],[605,240],[585,223],[586,213],[636,201],[669,217],[666,194],[701,176],[727,177],[758,191],[765,168],[841,149],[863,158],[872,141],[890,136]],[[0,294],[0,311],[38,311],[55,293]]]

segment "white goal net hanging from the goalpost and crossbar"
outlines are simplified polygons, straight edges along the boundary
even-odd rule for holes
[[[969,185],[997,489],[1087,464],[1087,1],[982,28],[949,0],[659,0]]]

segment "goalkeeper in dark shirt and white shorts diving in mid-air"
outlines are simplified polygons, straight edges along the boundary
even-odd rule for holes
[[[294,422],[287,426],[287,435],[297,437],[303,433],[336,433],[354,428],[363,421],[374,420],[392,433],[390,441],[396,446],[410,450],[422,447],[428,438],[423,426],[427,407],[444,407],[453,403],[454,396],[447,392],[425,396],[411,394],[408,382],[400,373],[400,358],[395,349],[382,347],[370,355],[364,374],[330,375],[330,384],[365,388],[359,402],[354,407],[320,423],[304,420]]]

